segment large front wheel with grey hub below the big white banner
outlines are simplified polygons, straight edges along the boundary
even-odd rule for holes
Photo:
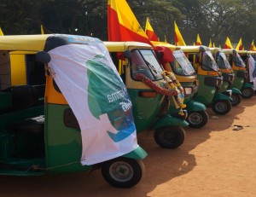
[[[119,157],[102,163],[102,177],[116,188],[131,188],[143,177],[143,161]]]

